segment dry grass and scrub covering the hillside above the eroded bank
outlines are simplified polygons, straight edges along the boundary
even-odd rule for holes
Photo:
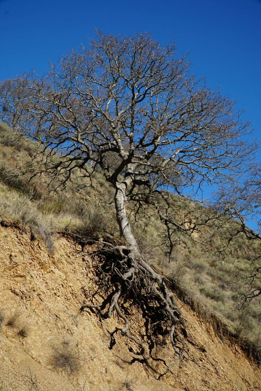
[[[111,205],[113,189],[102,174],[96,172],[91,184],[88,178],[79,178],[75,169],[63,190],[57,189],[53,182],[47,189],[47,174],[31,182],[26,175],[21,175],[20,167],[30,161],[30,151],[36,147],[34,142],[15,136],[7,126],[0,124],[0,144],[2,224],[12,221],[24,230],[29,228],[32,240],[40,235],[50,252],[55,252],[53,238],[58,233],[70,234],[82,242],[100,240],[109,234],[122,242]],[[90,186],[86,187],[86,183]],[[193,210],[193,205],[182,198],[175,196],[173,202],[181,219],[182,213]],[[201,210],[207,213],[207,208],[202,206]],[[261,349],[258,298],[243,306],[241,300],[241,294],[247,289],[243,277],[249,275],[258,257],[259,241],[248,241],[242,233],[229,247],[224,247],[226,238],[236,230],[236,222],[228,219],[222,229],[215,232],[213,248],[200,243],[206,233],[209,235],[211,226],[201,227],[191,238],[177,231],[175,248],[169,258],[164,227],[159,219],[151,213],[150,223],[145,224],[142,213],[137,217],[134,212],[130,219],[141,252],[150,265],[161,269],[187,298],[201,303],[205,314],[213,312],[235,334],[246,337]],[[220,252],[218,248],[225,250]]]

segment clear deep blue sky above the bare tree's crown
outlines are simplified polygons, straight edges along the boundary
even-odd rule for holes
[[[148,31],[162,44],[175,39],[193,72],[236,99],[261,130],[261,1],[0,0],[0,80],[47,70],[67,50],[86,44],[94,29]],[[261,160],[261,155],[259,156]]]

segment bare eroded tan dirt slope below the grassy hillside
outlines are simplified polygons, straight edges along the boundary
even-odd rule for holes
[[[90,310],[80,313],[84,292],[91,296],[97,289],[90,249],[82,256],[80,248],[64,238],[57,238],[55,248],[55,254],[48,255],[40,241],[30,240],[29,232],[0,226],[0,308],[5,318],[0,329],[0,390],[261,390],[260,369],[238,346],[220,341],[209,327],[207,332],[197,314],[181,302],[190,359],[173,365],[161,380],[138,361],[129,365],[138,357],[131,352],[135,345],[116,336],[109,350],[109,332],[118,319],[101,324]],[[20,316],[8,326],[17,310]],[[138,310],[132,319],[133,330],[141,332]],[[28,335],[18,335],[25,325]],[[55,359],[65,351],[72,356],[72,373],[60,369]],[[172,349],[165,346],[159,356],[172,362]],[[162,370],[160,362],[155,366]]]

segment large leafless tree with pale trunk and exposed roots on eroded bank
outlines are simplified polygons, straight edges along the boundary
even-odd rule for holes
[[[102,306],[83,307],[108,317],[115,310],[125,323],[119,330],[136,342],[147,364],[151,350],[130,334],[122,298],[138,300],[150,327],[168,332],[178,357],[184,354],[185,323],[168,280],[141,256],[126,210],[135,205],[136,216],[148,208],[157,213],[170,256],[175,231],[193,237],[201,225],[218,221],[217,211],[200,210],[193,221],[185,212],[181,220],[173,194],[196,201],[206,186],[226,187],[248,169],[255,148],[243,141],[249,124],[241,122],[233,102],[195,80],[186,57],[176,59],[175,51],[148,34],[98,32],[89,48],[66,54],[44,77],[23,75],[0,88],[0,118],[40,145],[38,173],[55,172],[65,186],[75,167],[85,176],[100,170],[114,187],[125,245],[107,243],[118,254],[104,271],[113,294],[106,313]]]

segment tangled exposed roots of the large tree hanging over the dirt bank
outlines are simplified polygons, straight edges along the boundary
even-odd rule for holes
[[[98,251],[100,261],[95,270],[99,278],[99,289],[96,294],[98,291],[103,292],[105,299],[101,305],[84,303],[80,310],[90,308],[102,318],[110,318],[116,313],[124,326],[117,326],[114,332],[110,333],[110,348],[112,349],[116,343],[114,335],[120,332],[134,341],[139,348],[135,354],[141,355],[141,360],[157,373],[160,379],[184,357],[186,325],[181,311],[177,307],[173,293],[168,290],[167,280],[154,271],[139,254],[126,246],[114,247],[107,242],[103,245]],[[130,332],[131,315],[124,307],[127,301],[131,301],[132,305],[137,305],[142,310],[146,331],[141,337]],[[154,348],[159,343],[166,344],[168,337],[176,357],[171,364],[154,357]],[[165,370],[159,372],[154,368],[153,361],[161,362]]]

